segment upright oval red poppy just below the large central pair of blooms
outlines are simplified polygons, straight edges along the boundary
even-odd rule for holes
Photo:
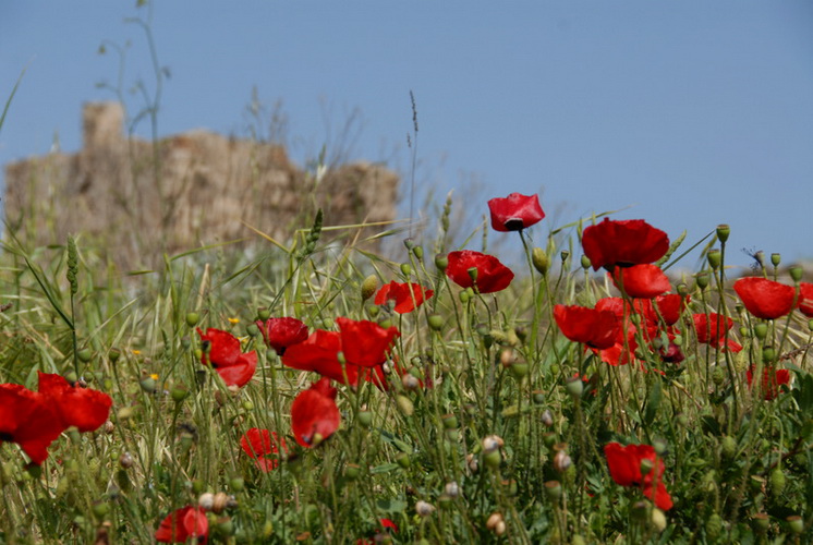
[[[341,415],[335,400],[336,388],[327,377],[296,396],[291,404],[291,428],[296,443],[311,448],[339,429]]]

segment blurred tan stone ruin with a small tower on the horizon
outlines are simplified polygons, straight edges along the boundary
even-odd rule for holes
[[[28,247],[64,244],[83,233],[104,242],[121,269],[153,267],[202,245],[286,242],[310,227],[396,218],[398,175],[357,162],[319,180],[293,165],[282,146],[192,131],[158,142],[126,137],[118,102],[85,105],[84,145],[5,168],[5,221]],[[360,240],[371,228],[351,230]],[[326,233],[328,235],[328,233]],[[375,244],[372,244],[375,246]],[[371,244],[367,244],[367,249]]]

